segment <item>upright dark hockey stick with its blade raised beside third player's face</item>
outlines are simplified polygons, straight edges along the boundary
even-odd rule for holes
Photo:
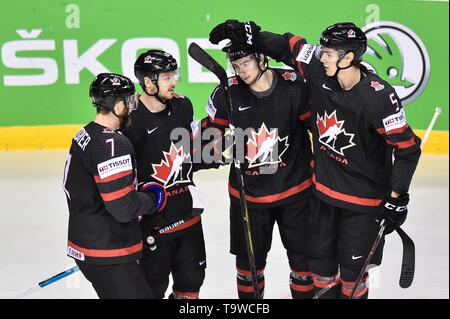
[[[229,86],[228,86],[227,72],[219,63],[217,63],[216,60],[214,60],[208,53],[206,53],[195,42],[192,42],[189,45],[188,53],[195,61],[197,61],[199,64],[201,64],[202,66],[207,68],[219,79],[220,85],[222,86],[224,93],[225,93],[226,103],[228,104],[227,116],[230,121],[230,128],[232,128],[232,131],[233,131],[233,128],[234,128],[234,125],[233,125],[234,124],[233,103],[231,101],[231,95],[230,95]],[[255,253],[254,253],[254,249],[253,249],[252,234],[250,231],[250,219],[249,219],[247,202],[245,201],[244,176],[243,176],[241,168],[240,168],[239,159],[237,159],[235,157],[234,163],[235,163],[234,167],[236,169],[237,179],[239,181],[239,186],[240,186],[239,203],[240,203],[240,208],[241,208],[242,222],[243,222],[243,226],[244,226],[245,246],[247,249],[250,272],[252,274],[253,295],[254,295],[255,299],[260,299],[261,294],[259,292],[258,276],[256,273]]]

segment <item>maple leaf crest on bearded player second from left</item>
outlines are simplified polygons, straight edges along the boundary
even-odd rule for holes
[[[154,171],[152,177],[163,183],[165,187],[177,183],[190,183],[191,155],[184,152],[183,146],[177,148],[172,142],[169,152],[163,151],[163,154],[164,160],[161,163],[152,164]]]

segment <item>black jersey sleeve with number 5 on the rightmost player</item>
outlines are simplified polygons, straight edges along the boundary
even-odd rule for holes
[[[378,134],[394,149],[391,188],[408,192],[421,155],[421,140],[406,121],[405,111],[395,90],[389,86],[372,107],[371,120]]]

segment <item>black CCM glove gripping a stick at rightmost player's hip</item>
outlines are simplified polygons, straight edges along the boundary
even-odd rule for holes
[[[397,227],[400,227],[406,220],[408,215],[409,194],[401,194],[394,198],[390,194],[386,197],[383,203],[383,219],[386,225],[384,233],[390,234]]]

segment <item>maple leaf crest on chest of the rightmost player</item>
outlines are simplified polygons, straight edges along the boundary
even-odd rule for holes
[[[317,129],[319,142],[328,146],[334,152],[344,155],[344,149],[355,146],[353,137],[355,134],[347,133],[344,128],[345,121],[339,121],[336,110],[330,115],[325,111],[323,117],[317,114]]]

